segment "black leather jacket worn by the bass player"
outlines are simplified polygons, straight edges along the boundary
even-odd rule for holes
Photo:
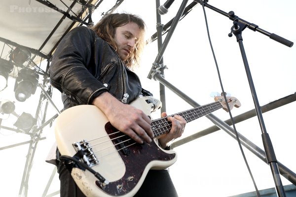
[[[64,108],[91,104],[103,92],[124,103],[142,91],[139,77],[120,60],[114,49],[87,27],[67,33],[54,52],[50,83],[62,93]]]

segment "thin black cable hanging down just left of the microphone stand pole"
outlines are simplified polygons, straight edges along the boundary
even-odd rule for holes
[[[217,68],[217,73],[218,73],[218,77],[219,77],[219,81],[220,81],[220,85],[221,85],[222,93],[225,93],[224,88],[223,88],[223,84],[222,84],[222,80],[221,80],[221,75],[220,75],[220,71],[219,71],[219,66],[218,66],[218,63],[217,63],[217,60],[216,60],[216,56],[215,56],[215,52],[214,52],[214,49],[213,49],[213,46],[212,46],[212,41],[211,41],[211,36],[210,36],[210,33],[209,33],[209,27],[208,27],[207,16],[206,16],[206,11],[205,11],[205,6],[204,6],[204,2],[203,2],[203,0],[201,1],[201,5],[202,5],[203,12],[204,12],[204,16],[205,16],[205,22],[206,22],[206,27],[207,27],[207,33],[208,33],[209,43],[210,43],[210,46],[211,46],[211,50],[212,50],[212,53],[213,53],[213,58],[214,58],[215,65],[216,65],[216,68]],[[228,102],[227,102],[227,99],[226,99],[226,94],[223,94],[223,97],[224,97],[224,100],[225,100],[225,103],[226,103],[226,106],[227,106],[227,110],[228,110],[228,113],[229,113],[229,116],[230,116],[230,120],[231,120],[231,122],[232,122],[232,126],[233,126],[233,130],[234,130],[234,132],[235,132],[236,140],[237,140],[237,142],[238,142],[238,145],[239,145],[239,148],[240,148],[240,150],[241,150],[242,156],[243,156],[243,158],[244,158],[245,164],[246,164],[246,166],[247,166],[247,168],[248,168],[249,174],[250,174],[250,176],[251,176],[251,178],[252,178],[252,181],[253,181],[254,187],[255,187],[255,189],[256,189],[257,196],[260,197],[260,194],[259,194],[259,191],[258,191],[258,188],[257,188],[256,182],[255,182],[254,177],[253,177],[253,175],[252,175],[252,172],[251,172],[250,166],[249,166],[248,161],[247,161],[247,159],[246,159],[246,156],[245,156],[244,150],[242,149],[242,145],[241,145],[240,139],[239,139],[239,137],[238,137],[238,134],[237,134],[237,131],[236,131],[236,128],[235,128],[234,120],[233,120],[233,117],[232,117],[232,114],[231,114],[231,112],[230,112],[230,108],[229,108],[229,105],[228,105]]]

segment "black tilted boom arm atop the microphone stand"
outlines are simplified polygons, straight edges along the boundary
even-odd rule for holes
[[[201,3],[201,0],[194,0],[194,1]],[[265,30],[262,30],[262,29],[259,28],[258,25],[255,25],[253,23],[249,23],[248,21],[245,21],[245,20],[235,16],[233,11],[230,11],[229,13],[226,13],[226,12],[224,12],[224,11],[222,11],[222,10],[212,6],[212,5],[209,5],[206,2],[204,2],[204,6],[210,8],[210,9],[212,9],[212,10],[214,10],[214,11],[220,13],[220,14],[222,14],[223,16],[228,17],[232,21],[234,21],[235,19],[238,19],[238,22],[246,25],[250,30],[253,30],[254,32],[259,32],[259,33],[262,33],[264,35],[267,35],[270,39],[273,39],[273,40],[275,40],[275,41],[277,41],[277,42],[279,42],[281,44],[284,44],[284,45],[286,45],[288,47],[292,47],[294,45],[294,43],[292,41],[287,40],[286,38],[283,38],[283,37],[281,37],[281,36],[279,36],[279,35],[277,35],[275,33],[269,33],[269,32],[267,32]]]

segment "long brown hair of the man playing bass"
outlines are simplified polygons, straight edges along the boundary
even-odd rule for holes
[[[92,30],[98,34],[99,37],[107,41],[117,51],[117,46],[114,41],[115,29],[117,27],[124,26],[130,22],[136,23],[140,29],[140,36],[138,41],[135,43],[134,53],[124,62],[126,66],[133,69],[139,66],[140,55],[144,49],[145,41],[145,28],[146,24],[139,16],[127,13],[114,13],[104,16]]]

